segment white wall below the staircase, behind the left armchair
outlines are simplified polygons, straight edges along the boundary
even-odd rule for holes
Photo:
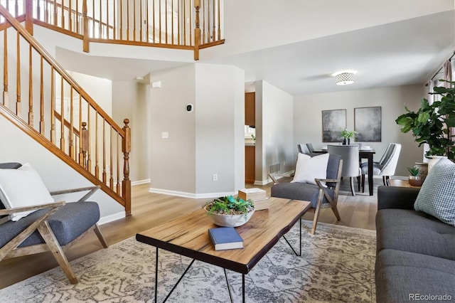
[[[49,191],[92,186],[65,162],[28,137],[18,127],[0,115],[0,163],[28,162],[38,171]],[[85,193],[58,196],[57,201],[77,201]],[[102,191],[97,191],[89,201],[100,205],[101,223],[124,217],[124,208]]]

